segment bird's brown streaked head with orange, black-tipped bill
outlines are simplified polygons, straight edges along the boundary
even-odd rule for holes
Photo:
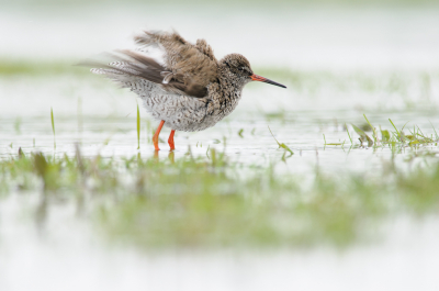
[[[227,71],[227,77],[232,78],[237,86],[244,87],[250,81],[260,81],[286,88],[286,86],[254,74],[250,63],[243,55],[229,54],[226,55],[219,63]]]

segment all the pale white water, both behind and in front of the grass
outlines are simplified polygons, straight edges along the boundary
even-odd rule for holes
[[[175,26],[184,36],[205,36],[218,56],[239,52],[268,78],[289,89],[251,83],[237,110],[215,127],[177,133],[176,157],[190,147],[204,156],[224,150],[233,163],[267,167],[281,160],[270,134],[294,155],[277,163],[280,172],[303,177],[320,171],[379,176],[390,148],[350,148],[349,123],[370,122],[405,132],[416,124],[424,134],[439,128],[439,18],[437,9],[297,9],[277,13],[249,9],[245,14],[218,8],[218,15],[164,7],[108,9],[7,8],[0,12],[3,58],[74,64],[94,53],[130,47],[130,33],[143,26]],[[183,11],[184,13],[180,13]],[[56,12],[56,13],[55,13]],[[219,13],[221,12],[221,13]],[[225,15],[225,16],[224,16]],[[248,23],[258,20],[258,31]],[[280,29],[282,27],[282,29]],[[16,35],[25,36],[16,37]],[[224,40],[228,40],[225,42]],[[282,45],[273,45],[277,43]],[[281,71],[277,68],[284,68]],[[292,71],[290,71],[290,69]],[[271,77],[273,75],[273,77]],[[426,77],[427,76],[427,77]],[[274,78],[277,77],[277,78]],[[279,79],[278,79],[279,78]],[[13,75],[0,79],[0,158],[43,152],[85,156],[143,158],[154,155],[150,136],[157,122],[140,110],[142,144],[137,150],[136,98],[86,74]],[[50,124],[55,114],[56,147]],[[431,124],[430,124],[431,122]],[[243,130],[239,136],[239,131]],[[169,130],[161,138],[167,139]],[[346,142],[342,146],[327,143]],[[224,137],[226,145],[224,146]],[[167,159],[167,144],[160,144]],[[438,155],[437,145],[418,153]],[[397,152],[406,169],[414,154]],[[425,167],[423,158],[415,165]],[[435,290],[438,219],[393,217],[382,223],[382,238],[339,251],[317,247],[264,251],[165,251],[145,254],[130,246],[109,246],[87,217],[70,203],[50,208],[44,228],[34,220],[36,195],[12,194],[0,204],[1,290]],[[26,280],[23,280],[26,275]]]

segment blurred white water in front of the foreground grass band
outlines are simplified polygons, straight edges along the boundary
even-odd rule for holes
[[[75,208],[31,223],[31,197],[0,204],[2,290],[436,290],[437,216],[383,222],[385,239],[345,250],[168,250],[109,247]],[[25,275],[26,280],[23,280]]]

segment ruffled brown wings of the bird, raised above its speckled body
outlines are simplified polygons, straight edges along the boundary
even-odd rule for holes
[[[97,67],[91,71],[105,75],[120,82],[131,83],[143,78],[159,85],[169,93],[203,98],[207,85],[217,80],[217,60],[212,47],[199,40],[191,44],[178,33],[145,32],[135,37],[139,51],[116,51],[108,54],[109,64],[86,61],[82,65]],[[149,57],[145,47],[156,46],[164,52],[165,64]]]

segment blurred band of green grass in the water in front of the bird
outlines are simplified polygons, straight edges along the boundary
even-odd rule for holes
[[[346,246],[374,237],[384,217],[439,212],[437,160],[409,175],[389,165],[380,178],[318,174],[303,187],[273,167],[249,175],[214,149],[207,157],[22,153],[0,161],[0,193],[40,195],[46,212],[76,201],[106,237],[145,248]]]

